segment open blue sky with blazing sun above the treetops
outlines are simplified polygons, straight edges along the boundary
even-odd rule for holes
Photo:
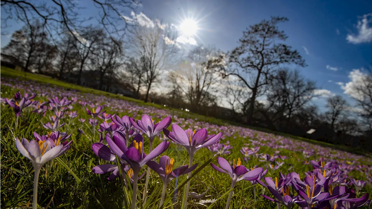
[[[90,10],[93,11],[94,8]],[[325,105],[327,97],[336,94],[353,104],[350,87],[372,64],[369,0],[143,0],[135,13],[128,11],[126,16],[158,19],[175,26],[192,19],[198,30],[190,35],[191,39],[180,37],[178,43],[213,46],[222,51],[238,46],[242,31],[249,25],[270,16],[288,17],[289,21],[281,23],[279,29],[289,36],[285,44],[305,58],[308,66],[298,69],[316,81],[323,95],[315,101],[320,106]],[[21,23],[14,23],[8,30],[20,27]],[[0,47],[9,41],[9,37],[0,38]]]

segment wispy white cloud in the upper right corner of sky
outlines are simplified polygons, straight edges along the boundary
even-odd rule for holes
[[[347,34],[346,40],[352,44],[362,44],[369,43],[372,41],[372,13],[363,15],[362,19],[358,20],[356,28],[358,30],[357,34]]]

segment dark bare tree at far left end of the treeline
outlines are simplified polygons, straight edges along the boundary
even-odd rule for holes
[[[13,32],[12,39],[3,48],[3,51],[14,55],[19,61],[23,62],[23,70],[28,72],[37,46],[42,45],[41,43],[45,42],[46,39],[47,34],[44,32],[44,27],[39,21],[35,21],[32,25],[25,25],[22,29]]]

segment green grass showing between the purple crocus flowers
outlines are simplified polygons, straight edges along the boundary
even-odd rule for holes
[[[8,70],[6,68],[0,69],[1,77],[17,77],[22,75],[19,72]],[[88,89],[73,84],[64,83],[58,80],[54,80],[47,77],[42,77],[40,75],[34,74],[23,74],[23,78],[33,79],[41,83],[55,84],[61,87],[78,89],[81,91],[79,95],[84,96],[86,99],[92,99],[93,94],[103,94],[105,96],[114,97],[116,99],[129,100],[135,102],[138,106],[147,105],[139,100],[134,100],[128,97],[121,97],[115,94],[109,94],[103,91]],[[23,89],[13,89],[9,86],[1,86],[1,97],[11,97],[16,91]],[[38,96],[37,100],[46,100],[46,97]],[[104,101],[103,101],[104,103]],[[212,124],[226,125],[225,121],[207,118],[204,116],[199,116],[196,114],[189,114],[179,110],[164,108],[159,105],[150,104],[158,109],[166,109],[174,114],[178,115],[179,118],[198,118],[198,121],[205,121]],[[84,107],[76,104],[73,106],[72,110],[76,110],[80,115],[78,118],[89,119],[90,116],[86,114]],[[113,113],[113,112],[109,112]],[[128,112],[116,112],[118,115],[122,116],[128,114]],[[130,113],[133,114],[133,113]],[[48,111],[47,116],[52,115],[52,112]],[[155,113],[152,115],[155,117]],[[140,113],[137,114],[137,119],[140,117]],[[27,138],[29,140],[33,139],[33,132],[38,132],[39,134],[46,134],[47,130],[42,127],[42,124],[47,122],[48,119],[42,118],[41,115],[32,113],[29,109],[25,109],[22,112],[22,116],[19,119],[18,126],[16,126],[16,118],[14,116],[13,110],[7,108],[7,106],[0,105],[0,208],[14,208],[14,207],[24,207],[28,205],[31,201],[32,196],[32,185],[33,185],[33,167],[30,161],[20,155],[15,147],[14,138]],[[65,131],[73,134],[71,140],[73,144],[71,148],[58,159],[52,161],[50,165],[44,165],[41,170],[39,178],[39,199],[38,203],[42,208],[46,208],[47,205],[51,209],[57,208],[99,208],[102,205],[103,208],[122,208],[123,199],[128,199],[131,195],[131,190],[126,190],[122,187],[121,181],[116,179],[115,181],[109,182],[107,180],[108,174],[94,174],[92,173],[92,168],[99,164],[106,164],[104,161],[98,158],[91,150],[92,142],[98,141],[98,136],[93,137],[92,129],[86,123],[83,125],[78,121],[78,118],[68,120],[63,119],[66,125],[61,128],[61,131]],[[195,120],[194,120],[195,122]],[[234,123],[232,123],[234,124]],[[193,124],[186,125],[185,128],[193,128]],[[77,129],[83,130],[86,135],[78,134]],[[169,128],[170,129],[170,128]],[[217,130],[219,131],[219,130]],[[265,130],[260,130],[265,131]],[[209,134],[214,133],[214,131],[208,130]],[[282,134],[284,135],[284,134]],[[256,132],[252,138],[243,138],[238,132],[233,133],[231,136],[226,136],[224,141],[229,140],[233,149],[231,149],[230,155],[225,155],[223,157],[228,160],[238,159],[241,156],[240,148],[245,147],[246,143],[250,143],[248,139],[260,140],[260,137],[266,137],[269,140],[275,138],[274,135],[261,134]],[[292,136],[293,137],[293,136]],[[146,137],[145,141],[147,140]],[[294,137],[295,138],[295,137]],[[302,141],[307,141],[309,139],[298,138]],[[161,142],[159,138],[155,138],[155,146]],[[311,143],[312,141],[309,141]],[[146,142],[147,143],[147,142]],[[279,142],[278,142],[279,143]],[[323,146],[333,147],[329,144],[323,144],[316,142],[316,144],[321,144]],[[311,148],[311,144],[307,144],[308,148]],[[268,146],[262,146],[260,153],[273,154],[275,149]],[[288,158],[284,160],[285,165],[280,168],[280,170],[269,170],[266,176],[271,176],[273,178],[279,176],[279,171],[283,173],[288,173],[290,171],[295,171],[301,174],[303,178],[304,172],[309,171],[312,167],[308,164],[303,163],[304,160],[319,160],[321,157],[318,154],[311,156],[310,159],[305,159],[302,156],[301,151],[290,151],[288,149],[280,148],[280,155],[286,155]],[[148,146],[145,146],[145,152],[148,153]],[[338,153],[338,151],[331,150],[332,153]],[[187,152],[185,149],[177,144],[170,144],[164,154],[169,157],[174,158],[175,165],[178,167],[188,163]],[[200,149],[194,158],[194,163],[198,163],[199,167],[201,165],[206,165],[198,173],[193,173],[194,177],[191,179],[191,192],[202,193],[209,185],[213,188],[209,190],[206,194],[207,197],[203,199],[218,199],[220,198],[213,208],[224,208],[227,200],[227,192],[230,190],[231,179],[227,174],[219,173],[211,168],[208,161],[213,160],[211,152],[206,149]],[[353,160],[353,159],[350,159]],[[158,159],[157,159],[158,161]],[[217,164],[216,160],[212,161]],[[370,164],[368,158],[361,158],[355,163],[357,164]],[[250,168],[254,165],[266,166],[267,163],[259,161],[256,157],[251,158],[247,162],[243,162],[243,165]],[[365,175],[357,170],[351,171],[352,175],[356,179],[365,179]],[[180,186],[185,182],[185,176],[179,177],[176,185],[176,180],[172,180],[168,186],[168,191],[166,197],[172,200],[175,204],[171,206],[167,203],[166,208],[179,208],[180,197],[183,194],[183,188],[177,192],[175,200],[173,200],[172,191],[175,187]],[[139,197],[138,206],[141,205],[140,197],[142,197],[142,191],[144,188],[145,177],[139,180]],[[266,194],[271,196],[267,189],[257,185],[257,194]],[[125,192],[123,192],[125,191]],[[363,188],[362,192],[372,192],[371,185]],[[158,178],[157,174],[151,172],[150,183],[148,188],[149,201],[146,208],[157,208],[161,193],[161,180]],[[225,195],[225,196],[223,196]],[[130,199],[130,197],[129,197]],[[128,202],[128,201],[127,201]],[[124,206],[124,208],[127,208]],[[141,207],[139,207],[141,208]],[[205,209],[206,206],[198,204],[198,201],[189,201],[188,208],[195,209]],[[260,195],[254,200],[253,187],[248,181],[240,181],[237,183],[234,189],[234,196],[232,197],[232,202],[230,204],[230,209],[243,209],[243,208],[256,208],[256,209],[267,209],[276,208],[276,205],[268,200],[264,200]]]

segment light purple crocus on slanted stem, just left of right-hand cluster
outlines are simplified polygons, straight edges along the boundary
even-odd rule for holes
[[[230,176],[231,189],[234,188],[235,183],[237,183],[240,180],[243,180],[243,179],[248,180],[248,181],[257,180],[263,171],[263,168],[256,168],[251,171],[248,171],[247,168],[244,167],[244,165],[241,165],[240,158],[238,159],[237,164],[235,164],[235,159],[234,159],[232,166],[229,164],[229,162],[225,158],[217,157],[217,161],[218,161],[219,166],[221,166],[222,169],[213,163],[211,163],[211,166],[215,170],[222,172],[222,173],[227,173]],[[231,191],[229,194],[225,209],[229,208],[232,192],[233,191]]]

